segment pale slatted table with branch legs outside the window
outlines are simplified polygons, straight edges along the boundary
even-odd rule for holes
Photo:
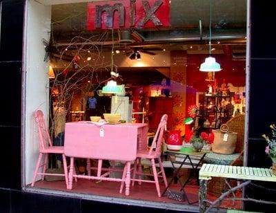
[[[244,183],[237,185],[236,187],[230,187],[229,190],[224,194],[221,194],[217,200],[212,202],[212,205],[206,210],[206,192],[207,182],[212,177],[219,178],[234,178],[237,180],[244,180]],[[217,207],[217,204],[223,200],[228,194],[235,192],[236,189],[242,188],[250,184],[251,180],[270,181],[276,182],[276,176],[273,174],[271,169],[266,168],[255,168],[255,167],[237,167],[229,165],[213,165],[204,164],[199,170],[199,212],[208,212],[212,207]],[[262,201],[259,201],[262,203]],[[275,203],[276,204],[276,203]]]

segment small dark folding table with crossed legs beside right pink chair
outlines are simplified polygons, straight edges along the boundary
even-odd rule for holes
[[[168,155],[168,158],[170,160],[170,163],[172,164],[172,168],[174,169],[174,172],[173,172],[172,179],[170,180],[170,183],[168,183],[168,187],[166,187],[162,196],[164,196],[164,194],[166,194],[167,192],[169,197],[173,196],[171,198],[174,198],[179,201],[183,201],[184,199],[186,199],[188,203],[191,204],[186,195],[184,187],[187,185],[188,182],[190,182],[190,180],[192,180],[194,174],[196,177],[198,177],[198,169],[199,167],[201,167],[202,160],[204,159],[205,155],[208,152],[209,151],[199,151],[199,152],[166,151],[166,154]],[[188,165],[191,171],[187,180],[184,183],[182,183],[180,180],[179,171],[184,165]],[[171,191],[169,189],[170,185],[175,180],[175,178],[177,178],[177,181],[179,182],[179,185],[181,187],[180,192],[182,192],[182,193],[179,193],[178,195],[177,193],[170,194]],[[198,178],[197,178],[197,183],[199,183]],[[196,202],[193,202],[193,203],[196,203]]]

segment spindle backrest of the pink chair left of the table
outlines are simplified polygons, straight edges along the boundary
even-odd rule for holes
[[[52,147],[52,141],[50,139],[50,134],[46,125],[43,112],[41,110],[35,111],[34,119],[35,122],[37,122],[37,127],[39,130],[39,149],[43,150],[47,147]]]

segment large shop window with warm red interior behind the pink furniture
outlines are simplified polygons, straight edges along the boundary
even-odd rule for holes
[[[207,135],[204,149],[210,150],[213,139],[208,136],[212,131],[246,113],[246,1],[211,3],[28,3],[24,156],[27,189],[33,189],[29,186],[39,154],[33,117],[37,109],[45,113],[50,138],[56,146],[64,145],[66,123],[106,122],[104,113],[119,113],[116,123],[147,124],[150,146],[162,115],[167,114],[166,136],[178,131],[181,137],[180,143],[162,146],[168,180],[172,178],[172,166],[166,149],[191,147],[197,132],[203,133],[201,137]],[[220,64],[221,71],[199,71],[210,55]],[[111,80],[119,85],[119,92],[106,92],[105,86]],[[165,137],[164,142],[168,141]],[[97,159],[90,163],[97,167]],[[61,164],[59,155],[50,155],[48,171],[62,172]],[[75,159],[76,173],[88,174],[86,164],[86,158]],[[103,167],[111,164],[103,161]],[[115,166],[121,169],[124,163]],[[144,170],[151,171],[148,165],[144,165]],[[189,172],[189,167],[181,169],[182,181]],[[80,179],[68,190],[61,179],[37,178],[34,188],[183,204],[168,196],[158,198],[152,183],[136,184],[130,187],[130,196],[124,196],[119,194],[117,182]],[[164,183],[160,185],[164,191]],[[177,187],[178,183],[172,183],[172,188]],[[197,184],[188,185],[186,193],[192,200],[197,199]]]

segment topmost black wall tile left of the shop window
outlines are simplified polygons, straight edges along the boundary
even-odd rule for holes
[[[0,61],[21,61],[23,41],[22,0],[1,1]]]

